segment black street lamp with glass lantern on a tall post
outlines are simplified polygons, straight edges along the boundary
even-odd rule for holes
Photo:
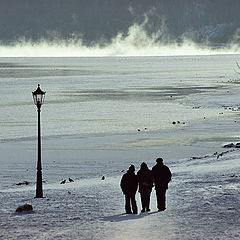
[[[41,128],[40,128],[40,112],[41,106],[44,103],[45,98],[44,91],[41,90],[40,84],[38,88],[32,92],[34,104],[37,106],[38,111],[38,162],[37,162],[37,185],[36,185],[36,198],[43,197],[42,190],[42,164],[41,164]]]

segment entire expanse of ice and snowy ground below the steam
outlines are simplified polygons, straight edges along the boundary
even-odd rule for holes
[[[0,239],[239,239],[239,151],[222,148],[240,142],[238,59],[0,58]],[[153,191],[150,214],[124,215],[123,170],[157,157],[173,172],[167,210]],[[24,203],[34,212],[15,214]]]

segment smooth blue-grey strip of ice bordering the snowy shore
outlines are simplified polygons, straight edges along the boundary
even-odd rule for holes
[[[54,184],[67,177],[76,180],[100,179],[103,175],[114,177],[121,175],[130,164],[138,168],[144,161],[152,167],[157,157],[162,157],[170,167],[176,162],[181,164],[194,158],[194,161],[201,161],[204,156],[229,150],[223,148],[225,144],[239,141],[238,127],[235,125],[236,128],[232,129],[232,122],[227,118],[220,119],[217,125],[213,121],[202,121],[201,124],[184,126],[186,129],[181,126],[163,132],[43,138],[43,179],[47,184]],[[207,132],[204,135],[199,130],[204,128],[214,133]],[[228,129],[232,129],[232,132],[228,132]],[[234,132],[235,137],[232,134]],[[0,189],[12,188],[14,184],[25,180],[35,182],[36,147],[36,141],[0,144],[3,159]],[[7,184],[9,178],[12,179],[12,185]]]

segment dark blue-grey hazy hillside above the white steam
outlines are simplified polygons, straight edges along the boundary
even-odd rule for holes
[[[104,44],[145,21],[149,34],[164,22],[168,40],[226,43],[240,25],[239,11],[237,0],[0,0],[0,41],[81,38],[86,45]]]

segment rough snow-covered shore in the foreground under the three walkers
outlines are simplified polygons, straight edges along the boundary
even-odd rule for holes
[[[4,190],[0,239],[239,239],[239,151],[170,167],[173,180],[161,213],[153,191],[149,214],[123,214],[121,176],[46,184],[44,199],[33,198],[34,186]],[[139,194],[137,200],[140,209]],[[25,203],[35,211],[15,214]]]

